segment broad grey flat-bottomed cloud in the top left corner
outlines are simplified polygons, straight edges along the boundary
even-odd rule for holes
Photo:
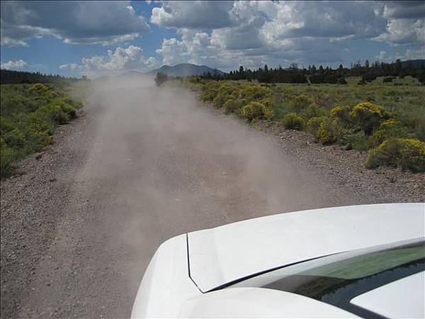
[[[45,35],[64,43],[110,45],[146,30],[130,1],[1,1],[2,45],[26,45]]]

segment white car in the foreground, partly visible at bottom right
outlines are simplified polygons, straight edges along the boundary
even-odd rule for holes
[[[132,318],[424,318],[425,203],[323,208],[180,235]]]

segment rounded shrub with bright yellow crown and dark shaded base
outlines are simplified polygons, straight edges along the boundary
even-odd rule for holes
[[[370,102],[362,102],[353,107],[350,117],[367,135],[370,135],[388,115],[381,106]]]

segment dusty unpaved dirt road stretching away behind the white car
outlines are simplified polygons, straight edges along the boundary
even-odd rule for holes
[[[169,237],[367,201],[182,91],[102,86],[64,130],[1,186],[2,318],[125,318]]]

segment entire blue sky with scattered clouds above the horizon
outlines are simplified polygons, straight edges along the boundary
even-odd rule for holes
[[[2,69],[99,77],[398,58],[425,58],[425,1],[1,1]]]

